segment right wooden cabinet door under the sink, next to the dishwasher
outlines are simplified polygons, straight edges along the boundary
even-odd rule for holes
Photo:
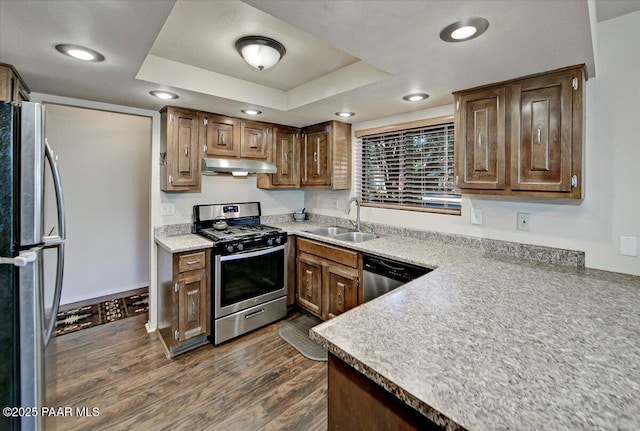
[[[358,271],[342,265],[327,265],[324,273],[328,292],[326,318],[336,317],[358,305]]]

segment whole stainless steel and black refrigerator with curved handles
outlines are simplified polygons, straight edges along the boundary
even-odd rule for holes
[[[45,227],[49,199],[55,199],[57,214],[54,225]],[[39,413],[47,405],[45,351],[60,304],[64,239],[62,188],[56,157],[44,137],[44,108],[0,102],[2,430],[44,429]],[[49,279],[45,261],[51,259],[45,253],[55,255],[55,275]]]

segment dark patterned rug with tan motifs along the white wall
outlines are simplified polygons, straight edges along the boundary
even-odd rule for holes
[[[55,335],[69,334],[92,326],[137,316],[148,311],[149,294],[147,292],[73,308],[58,313]]]

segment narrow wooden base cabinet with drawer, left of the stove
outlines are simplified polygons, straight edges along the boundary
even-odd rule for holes
[[[208,342],[211,250],[158,249],[158,336],[168,357]]]

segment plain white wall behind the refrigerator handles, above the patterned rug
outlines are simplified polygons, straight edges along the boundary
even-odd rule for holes
[[[66,210],[61,302],[148,286],[151,118],[55,104],[45,109]],[[47,218],[55,216],[48,197]],[[53,224],[48,220],[47,230]]]

